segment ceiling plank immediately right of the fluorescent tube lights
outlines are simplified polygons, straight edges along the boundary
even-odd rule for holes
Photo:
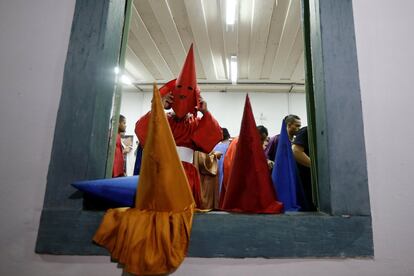
[[[238,20],[238,51],[237,51],[237,71],[239,79],[248,79],[249,75],[249,53],[250,53],[250,33],[251,19],[253,11],[253,0],[239,1],[239,20]]]

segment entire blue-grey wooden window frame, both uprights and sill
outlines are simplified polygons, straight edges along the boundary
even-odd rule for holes
[[[107,254],[91,241],[103,212],[84,210],[82,195],[70,183],[105,176],[111,110],[119,108],[113,68],[119,61],[126,3],[76,3],[37,253]],[[303,0],[302,10],[320,212],[198,214],[190,257],[374,254],[352,1]]]

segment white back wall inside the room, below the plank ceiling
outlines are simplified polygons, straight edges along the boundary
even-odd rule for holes
[[[239,135],[246,93],[242,92],[202,92],[208,109],[222,127],[232,136]],[[282,119],[288,114],[296,114],[307,125],[305,93],[249,93],[253,114],[257,125],[264,125],[269,135],[280,132]],[[124,92],[121,113],[128,114],[127,134],[133,134],[136,120],[151,108],[152,93]],[[126,116],[126,115],[125,115]]]

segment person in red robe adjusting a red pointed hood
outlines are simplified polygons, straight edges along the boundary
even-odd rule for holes
[[[221,141],[222,131],[218,122],[207,109],[197,85],[193,45],[177,79],[160,88],[167,120],[171,127],[177,151],[186,172],[196,205],[200,207],[200,179],[193,166],[194,150],[209,153]],[[203,116],[197,117],[200,111]],[[135,133],[146,149],[148,122],[151,112],[141,117],[135,125]]]

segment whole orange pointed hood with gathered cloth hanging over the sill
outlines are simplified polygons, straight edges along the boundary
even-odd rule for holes
[[[93,240],[129,273],[165,274],[187,253],[195,203],[155,85],[146,138],[134,208],[109,209]]]

